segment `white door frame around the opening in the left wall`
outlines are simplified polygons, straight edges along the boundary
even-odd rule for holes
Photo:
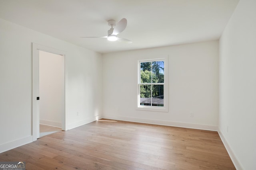
[[[64,115],[62,115],[62,130],[66,130],[66,52],[52,47],[32,43],[32,138],[36,141],[39,138],[39,51],[46,51],[64,56]]]

